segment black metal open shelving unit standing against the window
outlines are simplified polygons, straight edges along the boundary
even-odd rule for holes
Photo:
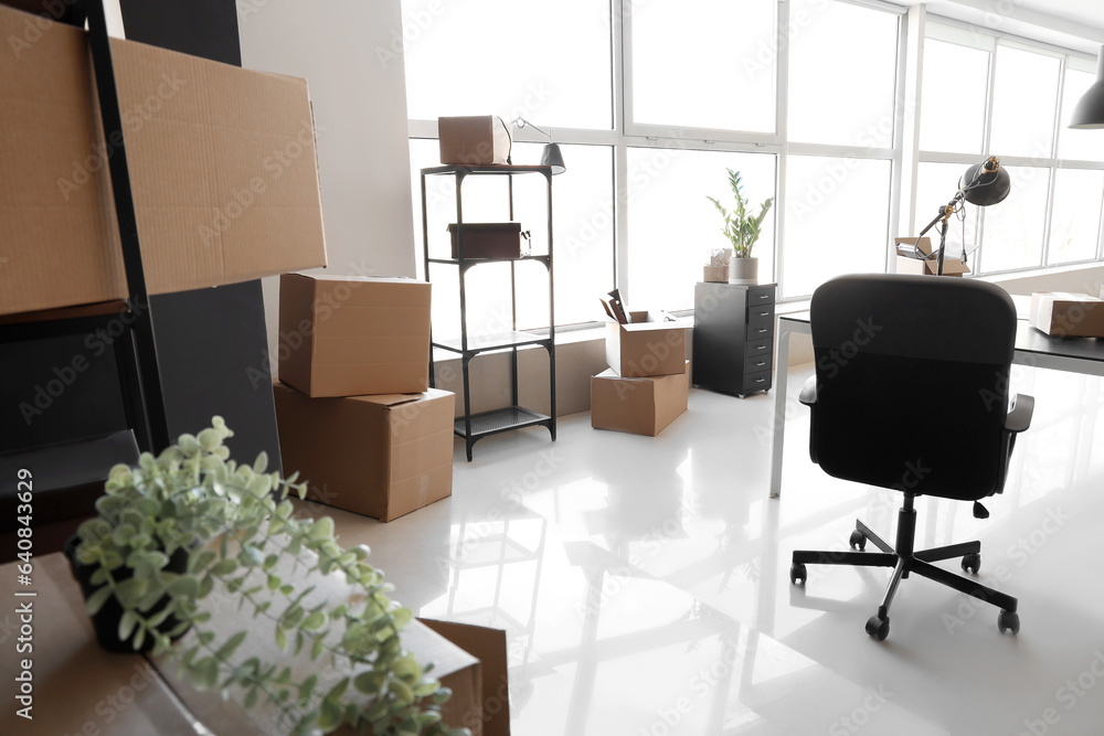
[[[473,174],[498,174],[509,178],[509,205],[510,220],[513,220],[513,177],[514,174],[538,173],[544,177],[548,185],[548,255],[522,256],[519,258],[465,258],[464,257],[464,180]],[[429,220],[426,207],[426,177],[429,175],[452,175],[456,179],[456,241],[457,258],[431,258],[429,257]],[[545,166],[440,166],[422,169],[422,250],[425,280],[429,281],[429,266],[453,265],[457,267],[457,279],[459,281],[460,294],[460,339],[436,342],[432,335],[429,339],[429,385],[435,385],[433,370],[433,350],[442,349],[460,355],[460,366],[464,376],[464,417],[457,419],[454,425],[454,433],[465,440],[468,461],[471,460],[471,446],[479,439],[521,427],[543,426],[548,427],[552,441],[555,441],[555,281],[552,267],[552,169]],[[535,260],[544,264],[549,278],[549,334],[540,337],[528,332],[518,331],[518,291],[517,291],[517,264],[521,260]],[[510,264],[510,318],[511,330],[503,334],[488,335],[484,340],[473,344],[468,340],[467,324],[467,289],[465,278],[467,271],[487,263],[509,263]],[[533,412],[519,405],[518,401],[518,349],[529,345],[540,345],[549,354],[549,396],[551,416]],[[511,399],[512,405],[471,414],[471,384],[470,363],[484,352],[509,350],[511,352]]]

